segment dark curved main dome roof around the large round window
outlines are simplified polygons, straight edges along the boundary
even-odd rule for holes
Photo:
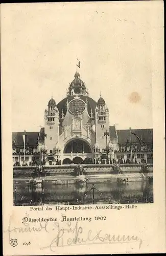
[[[64,99],[62,99],[58,105],[57,105],[57,108],[59,110],[59,114],[60,116],[62,116],[62,110],[63,110],[63,114],[65,116],[66,114],[66,102],[68,100],[68,102],[72,99],[74,99],[76,96],[75,95],[72,95],[72,96],[68,96]],[[96,105],[97,105],[97,102],[94,101],[92,98],[88,97],[88,96],[85,96],[85,95],[79,95],[80,99],[82,99],[85,103],[86,103],[86,100],[88,102],[88,114],[89,116],[91,116],[91,109],[92,109],[92,112],[93,112],[93,115],[94,115],[94,111],[95,111],[95,108],[96,108]]]

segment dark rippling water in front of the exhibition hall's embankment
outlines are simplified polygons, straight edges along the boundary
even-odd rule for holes
[[[42,180],[41,180],[42,182]],[[153,179],[117,183],[110,179],[76,184],[55,184],[45,180],[32,186],[29,180],[14,181],[14,205],[64,205],[153,203]]]

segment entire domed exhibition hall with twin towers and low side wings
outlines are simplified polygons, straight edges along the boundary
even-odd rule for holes
[[[25,140],[23,140],[25,135]],[[152,129],[116,130],[102,96],[89,97],[76,71],[66,97],[53,97],[40,132],[13,133],[13,164],[31,165],[153,162]]]

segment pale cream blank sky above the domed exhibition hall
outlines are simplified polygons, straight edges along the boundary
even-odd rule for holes
[[[89,97],[106,101],[110,125],[153,127],[151,15],[140,2],[10,5],[4,38],[13,132],[40,130],[51,96],[65,98],[77,58]]]

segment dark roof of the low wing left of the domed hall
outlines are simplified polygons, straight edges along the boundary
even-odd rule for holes
[[[24,132],[12,133],[12,141],[16,146],[23,146]],[[26,144],[29,146],[36,146],[38,144],[39,132],[26,132]]]

